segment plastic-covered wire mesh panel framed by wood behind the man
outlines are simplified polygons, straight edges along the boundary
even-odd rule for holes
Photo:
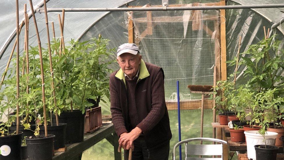
[[[149,12],[148,12],[149,13]],[[163,68],[166,100],[174,100],[180,81],[182,100],[200,99],[187,85],[212,85],[215,53],[219,54],[219,12],[128,12],[142,59]],[[148,14],[148,15],[147,15]],[[151,19],[149,19],[151,18]]]

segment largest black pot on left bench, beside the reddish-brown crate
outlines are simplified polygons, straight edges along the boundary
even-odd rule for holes
[[[84,140],[84,115],[80,110],[73,112],[62,112],[58,116],[59,123],[67,123],[65,131],[65,144],[79,143]],[[52,114],[52,121],[56,122]]]

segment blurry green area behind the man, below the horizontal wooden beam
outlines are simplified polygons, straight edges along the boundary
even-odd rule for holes
[[[101,104],[102,114],[110,114],[109,105]],[[170,141],[170,156],[172,159],[173,146],[178,142],[178,120],[177,120],[177,110],[168,111],[170,117],[171,131],[173,138]],[[204,111],[204,129],[203,137],[212,138],[212,110],[207,109]],[[181,118],[181,139],[196,138],[200,137],[200,110],[182,110],[180,114]],[[184,156],[184,146],[182,147],[182,155]],[[177,149],[176,155],[179,155]],[[176,157],[177,159],[178,156]],[[82,160],[113,160],[113,146],[106,140],[102,140],[93,147],[86,150],[82,155]],[[184,157],[182,158],[184,159]],[[233,159],[237,159],[235,155]]]

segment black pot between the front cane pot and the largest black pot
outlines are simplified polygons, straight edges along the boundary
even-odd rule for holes
[[[54,150],[65,147],[65,131],[67,123],[59,123],[58,126],[47,126],[47,133],[55,135],[54,137]],[[40,125],[40,134],[45,134],[44,126]]]

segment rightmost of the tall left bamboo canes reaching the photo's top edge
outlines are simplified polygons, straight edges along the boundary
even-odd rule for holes
[[[49,27],[48,27],[48,17],[47,17],[47,9],[46,9],[46,0],[43,0],[44,2],[44,8],[45,8],[45,24],[46,24],[46,31],[47,31],[47,44],[48,44],[48,56],[49,56],[49,66],[50,66],[50,73],[51,73],[51,87],[52,87],[52,94],[53,94],[53,101],[54,101],[54,107],[57,108],[56,103],[56,96],[55,96],[55,89],[54,89],[54,75],[53,75],[53,67],[52,67],[52,57],[51,57],[51,49],[50,49],[50,39],[49,39]],[[59,125],[58,121],[58,114],[55,113],[56,117],[56,125]],[[50,117],[51,118],[51,117]],[[52,125],[52,124],[51,124]]]

